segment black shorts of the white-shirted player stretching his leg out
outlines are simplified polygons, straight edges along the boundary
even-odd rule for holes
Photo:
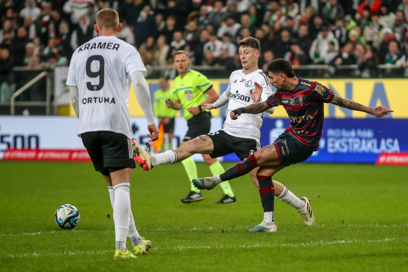
[[[207,134],[213,140],[214,150],[211,158],[222,157],[235,153],[243,161],[261,148],[261,143],[250,138],[241,138],[229,135],[223,130]]]

